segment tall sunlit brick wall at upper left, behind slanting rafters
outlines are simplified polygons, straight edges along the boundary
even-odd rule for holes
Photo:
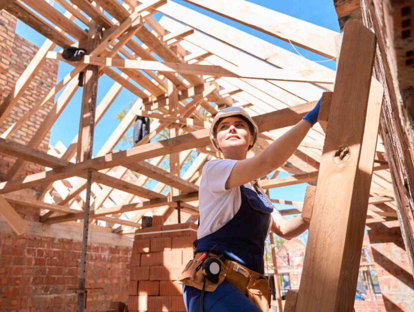
[[[14,33],[16,18],[6,12],[0,11],[0,101],[8,95],[15,81],[26,68],[39,47]],[[56,84],[57,62],[46,60],[37,75],[12,109],[7,119],[0,125],[0,133],[3,133],[12,123],[27,112],[35,102],[43,99],[50,89]],[[53,106],[52,97],[42,106],[26,123],[10,138],[21,144],[27,144],[35,131],[44,121],[47,112]],[[46,152],[49,144],[49,134],[45,136],[38,149]],[[8,169],[14,164],[15,158],[0,154],[0,180]],[[44,167],[33,163],[26,163],[22,174],[32,174],[43,171]]]

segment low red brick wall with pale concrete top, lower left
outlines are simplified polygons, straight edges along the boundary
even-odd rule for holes
[[[28,223],[16,236],[0,221],[0,312],[75,311],[81,224]],[[108,231],[89,231],[86,288],[99,289],[88,292],[87,312],[128,300],[132,239]]]

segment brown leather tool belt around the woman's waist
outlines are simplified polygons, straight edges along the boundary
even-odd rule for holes
[[[198,253],[193,260],[187,264],[177,282],[187,286],[192,286],[198,290],[203,290],[203,282],[206,279],[200,269],[202,261],[200,257],[204,253]],[[209,253],[208,257],[217,258],[216,255]],[[218,259],[218,258],[217,258]],[[213,292],[224,280],[237,288],[242,294],[247,295],[248,299],[255,304],[262,312],[268,312],[270,307],[270,288],[269,281],[263,274],[249,270],[246,267],[226,259],[221,263],[221,272],[218,283],[212,283],[206,279],[205,291]]]

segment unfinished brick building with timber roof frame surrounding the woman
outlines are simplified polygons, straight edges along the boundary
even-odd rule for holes
[[[266,240],[271,309],[414,312],[414,1],[326,5],[341,32],[246,0],[1,0],[0,312],[185,312],[174,281],[194,257],[203,166],[223,157],[214,116],[252,116],[251,157],[320,98],[319,122],[259,181],[307,186],[270,196],[310,222],[306,244]],[[50,144],[77,96],[77,134]]]

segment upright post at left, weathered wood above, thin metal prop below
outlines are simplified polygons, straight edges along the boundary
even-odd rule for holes
[[[101,41],[101,27],[92,19],[89,23],[87,51],[93,51]],[[82,107],[79,122],[79,136],[76,161],[92,158],[93,132],[95,122],[96,94],[98,91],[99,66],[88,65],[84,73]],[[83,312],[85,304],[86,252],[88,247],[89,208],[92,186],[92,170],[88,170],[86,183],[85,217],[83,219],[82,252],[78,284],[76,311]]]

